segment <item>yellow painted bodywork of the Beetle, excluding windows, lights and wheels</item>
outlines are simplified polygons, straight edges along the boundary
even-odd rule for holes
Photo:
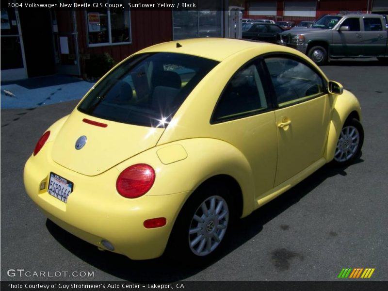
[[[75,109],[49,128],[48,141],[24,168],[26,192],[49,219],[100,248],[105,248],[101,242],[107,240],[113,244],[114,252],[131,259],[162,255],[179,211],[209,179],[233,179],[241,190],[234,193],[241,195],[236,197],[242,202],[240,216],[247,216],[331,161],[346,118],[353,112],[361,118],[356,97],[345,90],[339,96],[325,93],[289,107],[270,107],[259,114],[213,122],[214,107],[229,80],[247,62],[260,62],[261,56],[283,53],[299,58],[326,82],[328,79],[303,53],[268,43],[180,40],[138,53],[159,51],[193,54],[221,63],[198,82],[165,129],[138,129],[89,116],[108,125],[99,128],[83,123],[88,115]],[[283,117],[291,119],[289,129],[278,128]],[[90,137],[88,141],[100,143],[92,149],[95,159],[102,162],[93,162],[93,154],[85,152],[80,161],[66,164],[66,157],[74,159],[88,146],[75,150],[76,138],[82,134]],[[107,149],[111,142],[121,145]],[[110,156],[120,152],[114,159],[104,161],[104,150]],[[295,157],[288,159],[288,151]],[[146,194],[128,199],[117,192],[115,181],[123,170],[138,163],[151,166],[156,178]],[[67,203],[47,192],[50,172],[74,183]],[[40,190],[42,182],[46,186]],[[152,229],[143,225],[145,220],[157,217],[166,218],[167,224]]]

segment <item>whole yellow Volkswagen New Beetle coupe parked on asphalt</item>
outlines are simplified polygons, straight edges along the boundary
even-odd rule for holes
[[[116,65],[39,139],[28,195],[57,225],[130,259],[214,256],[231,223],[360,153],[356,97],[304,54],[188,39]]]

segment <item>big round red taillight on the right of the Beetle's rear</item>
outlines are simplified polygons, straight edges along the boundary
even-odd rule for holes
[[[136,164],[128,167],[118,176],[117,192],[126,198],[140,197],[151,189],[155,181],[155,171],[147,164]]]

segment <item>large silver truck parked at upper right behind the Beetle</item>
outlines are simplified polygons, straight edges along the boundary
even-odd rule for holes
[[[377,14],[326,15],[311,28],[279,33],[276,42],[307,54],[318,65],[328,58],[388,61],[387,18]]]

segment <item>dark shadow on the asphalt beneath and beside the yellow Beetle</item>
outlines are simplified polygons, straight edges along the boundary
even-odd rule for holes
[[[363,162],[363,160],[359,158],[354,163],[359,162]],[[324,180],[335,175],[346,176],[346,168],[336,169],[326,165],[275,200],[254,211],[248,217],[241,219],[237,227],[232,230],[233,241],[228,241],[224,245],[217,259],[202,266],[193,265],[191,262],[177,264],[164,257],[144,261],[130,260],[127,257],[112,252],[99,251],[97,247],[71,235],[49,220],[47,220],[46,226],[51,235],[68,251],[88,264],[117,278],[132,282],[179,281],[199,273],[239,248],[245,242],[251,240],[260,233],[267,222],[297,203]],[[275,259],[279,261],[287,259],[281,258],[282,256],[287,257],[291,255],[293,254],[284,252],[274,254]]]

